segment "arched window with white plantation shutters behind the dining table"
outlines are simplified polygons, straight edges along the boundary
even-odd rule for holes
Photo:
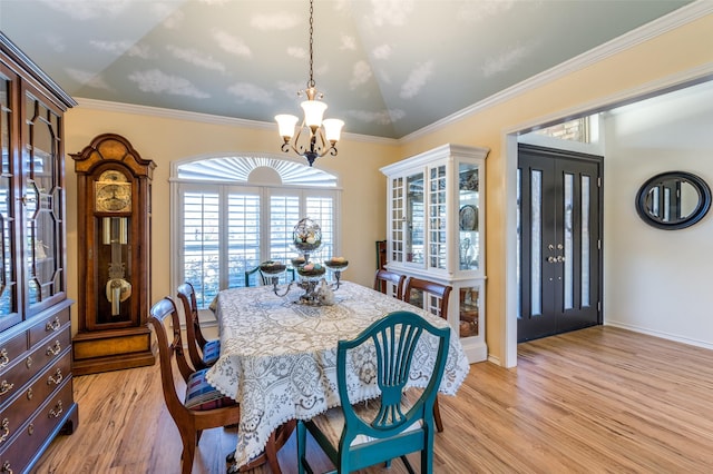
[[[339,254],[334,175],[270,157],[178,162],[172,175],[172,287],[191,282],[199,308],[221,289],[245,286],[245,271],[261,261],[296,256],[292,229],[303,217],[322,228],[322,247],[310,258]]]

